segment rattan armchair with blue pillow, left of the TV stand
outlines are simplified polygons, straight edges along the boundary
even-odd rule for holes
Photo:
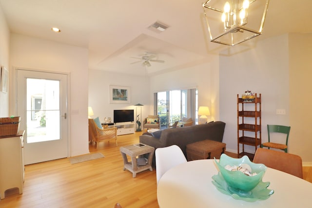
[[[91,137],[91,138],[90,138]],[[94,121],[94,119],[89,118],[89,140],[94,141],[97,143],[110,141],[112,139],[116,140],[117,146],[117,128],[108,128],[107,125],[103,126],[103,129],[98,128],[98,125]]]

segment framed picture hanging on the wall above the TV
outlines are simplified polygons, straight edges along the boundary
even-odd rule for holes
[[[130,103],[130,87],[110,85],[110,103]]]

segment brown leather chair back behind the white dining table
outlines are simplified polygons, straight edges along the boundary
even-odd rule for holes
[[[303,178],[302,159],[295,154],[258,148],[253,162]]]

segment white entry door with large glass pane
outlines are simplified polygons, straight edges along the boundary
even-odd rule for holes
[[[66,74],[17,70],[25,164],[68,157]]]

